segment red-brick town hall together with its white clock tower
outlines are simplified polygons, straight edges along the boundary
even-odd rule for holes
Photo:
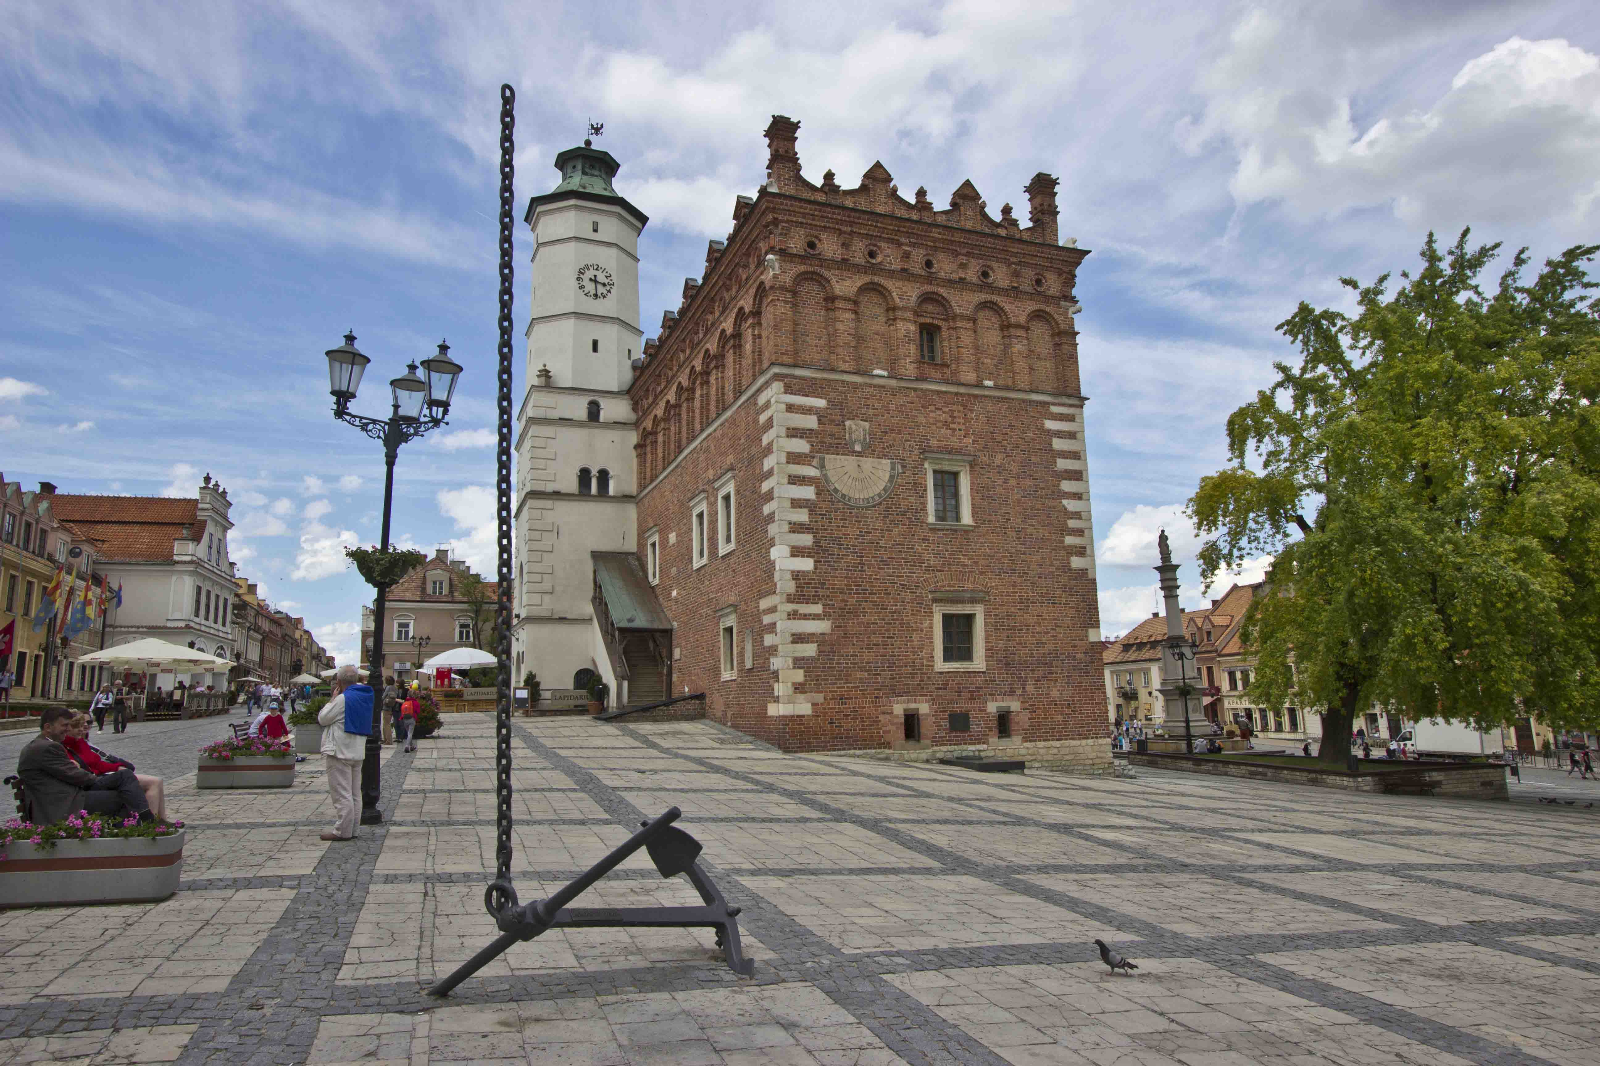
[[[704,692],[787,751],[1014,746],[1109,762],[1074,280],[1029,225],[882,163],[768,179],[638,329],[638,235],[598,149],[534,197],[517,440],[517,676]]]

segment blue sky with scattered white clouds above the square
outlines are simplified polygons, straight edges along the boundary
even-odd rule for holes
[[[936,203],[970,177],[1021,214],[1058,174],[1062,235],[1093,249],[1107,634],[1154,607],[1157,526],[1192,559],[1178,508],[1291,355],[1272,328],[1298,300],[1410,265],[1429,229],[1542,257],[1600,214],[1590,3],[13,0],[0,45],[0,470],[186,495],[210,471],[242,572],[346,660],[366,590],[341,545],[378,539],[382,491],[378,446],[326,409],[347,328],[374,414],[450,339],[453,425],[403,449],[395,531],[493,569],[501,82],[518,201],[605,121],[651,216],[646,336],[755,192],[774,112],[842,184],[882,160]]]

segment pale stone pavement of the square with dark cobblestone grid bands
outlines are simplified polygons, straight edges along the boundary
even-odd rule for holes
[[[709,932],[571,930],[432,1000],[496,932],[491,735],[450,716],[387,748],[389,821],[352,842],[317,839],[317,758],[285,791],[170,780],[194,829],[174,898],[0,913],[0,1063],[1600,1061],[1581,805],[992,777],[707,722],[520,719],[517,889],[677,804],[755,977]],[[694,901],[638,855],[579,903]]]

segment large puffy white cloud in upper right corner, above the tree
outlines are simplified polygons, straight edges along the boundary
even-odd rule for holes
[[[1448,88],[1434,82],[1429,102],[1373,110],[1371,80],[1405,40],[1394,34],[1405,18],[1251,10],[1200,75],[1206,105],[1179,125],[1179,141],[1192,152],[1229,144],[1237,203],[1282,201],[1306,219],[1386,208],[1446,233],[1592,222],[1600,58],[1514,35],[1466,61]]]

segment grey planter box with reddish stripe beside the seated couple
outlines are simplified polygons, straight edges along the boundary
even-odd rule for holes
[[[0,909],[165,900],[184,871],[184,836],[11,844],[0,860]]]

